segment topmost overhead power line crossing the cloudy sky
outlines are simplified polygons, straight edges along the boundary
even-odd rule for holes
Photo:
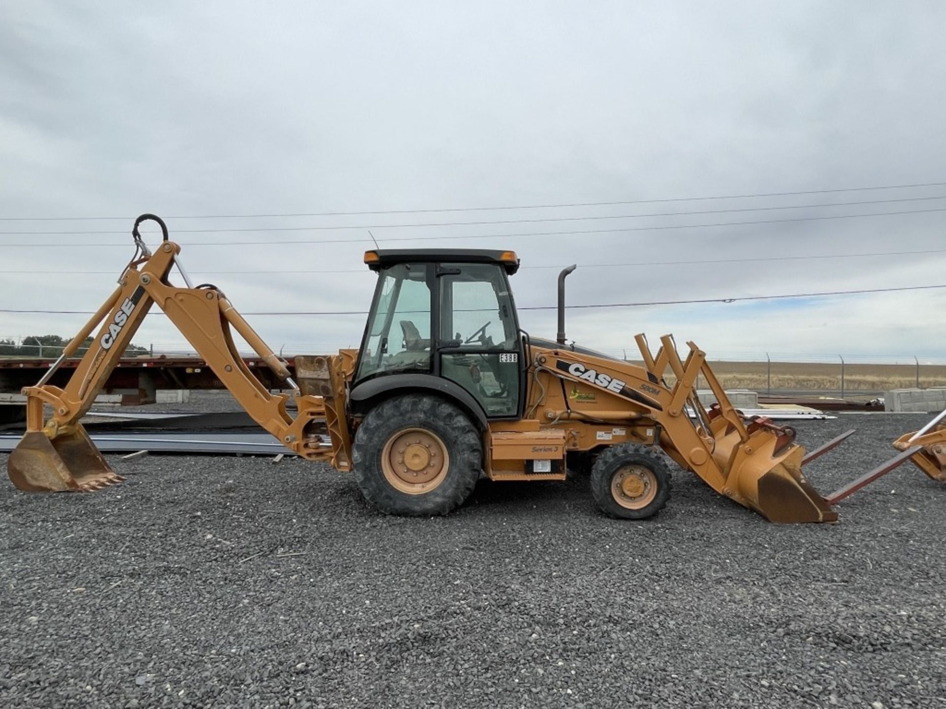
[[[916,182],[914,184],[887,184],[871,187],[838,187],[834,189],[797,190],[794,192],[759,192],[743,195],[715,195],[711,197],[671,197],[660,199],[620,199],[599,202],[558,202],[553,204],[517,204],[492,207],[439,207],[434,209],[386,209],[363,210],[359,212],[283,212],[272,214],[243,215],[182,215],[167,216],[168,219],[254,219],[267,217],[292,216],[368,216],[368,215],[414,215],[446,212],[496,212],[515,209],[565,209],[569,207],[613,207],[626,204],[659,204],[665,202],[709,201],[712,199],[758,199],[763,197],[797,197],[800,195],[827,195],[842,192],[868,192],[894,189],[915,189],[920,187],[941,187],[946,182]],[[110,221],[115,219],[133,219],[134,216],[0,216],[0,221]]]

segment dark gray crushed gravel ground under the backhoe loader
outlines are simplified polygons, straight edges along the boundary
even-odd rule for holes
[[[799,423],[859,428],[809,477],[925,418]],[[0,480],[0,706],[946,705],[946,490],[913,466],[780,527],[679,470],[629,523],[580,476],[401,519],[300,460],[113,463],[100,493]]]

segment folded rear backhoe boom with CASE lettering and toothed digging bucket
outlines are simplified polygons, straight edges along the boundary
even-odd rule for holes
[[[165,237],[153,254],[137,233],[138,225],[146,218],[157,221]],[[37,386],[23,390],[26,436],[8,463],[14,484],[29,491],[93,490],[121,479],[98,453],[79,420],[92,406],[154,304],[164,311],[257,424],[303,458],[331,460],[344,469],[349,459],[345,450],[347,438],[330,435],[331,443],[325,443],[323,438],[326,408],[331,408],[333,419],[337,420],[340,414],[343,417],[343,402],[339,408],[334,396],[340,393],[338,376],[335,388],[330,387],[327,396],[301,395],[285,363],[272,353],[218,288],[182,288],[167,283],[181,248],[167,240],[163,221],[151,215],[141,216],[132,233],[139,251],[122,273],[118,288],[66,346],[60,362]],[[68,384],[63,389],[45,384],[62,359],[76,352],[99,324],[96,337]],[[293,389],[292,398],[298,408],[294,418],[287,412],[290,397],[270,393],[247,367],[236,350],[231,327]],[[342,355],[333,358],[332,364],[341,368]],[[44,405],[52,408],[52,416],[45,422]]]

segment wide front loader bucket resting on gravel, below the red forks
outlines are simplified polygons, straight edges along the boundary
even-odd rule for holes
[[[806,458],[813,459],[815,454],[806,457],[805,449],[793,442],[782,444],[778,450],[778,436],[768,431],[754,435],[749,446],[737,449],[739,442],[736,431],[716,440],[713,458],[727,470],[724,494],[756,510],[769,522],[837,521],[837,512],[801,472]],[[832,441],[832,447],[839,442]]]

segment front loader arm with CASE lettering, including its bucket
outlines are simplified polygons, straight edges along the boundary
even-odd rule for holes
[[[644,367],[565,349],[540,355],[538,365],[596,393],[604,390],[606,408],[601,410],[605,405],[600,405],[592,409],[604,421],[654,421],[660,430],[660,446],[682,468],[703,478],[717,493],[761,512],[769,520],[837,519],[828,502],[801,474],[805,450],[794,443],[793,429],[760,417],[744,420],[711,371],[706,354],[692,342],[688,343],[686,360],[677,354],[671,336],[661,337],[656,357],[643,336],[638,337],[638,343]],[[669,373],[674,374],[673,386],[665,378]],[[696,396],[700,374],[706,377],[718,401],[709,411]]]

